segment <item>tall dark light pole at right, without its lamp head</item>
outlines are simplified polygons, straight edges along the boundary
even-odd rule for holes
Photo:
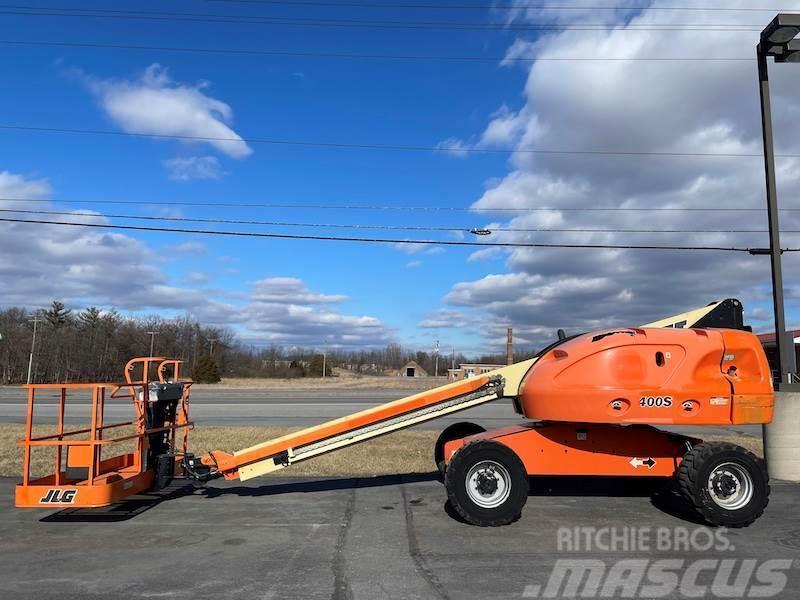
[[[764,142],[764,172],[767,182],[767,219],[769,221],[769,256],[772,266],[772,308],[775,315],[775,347],[777,349],[778,389],[790,383],[786,369],[790,363],[786,340],[786,319],[783,310],[783,270],[781,268],[780,223],[778,220],[778,192],[775,180],[775,149],[772,139],[772,112],[769,97],[769,72],[767,56],[759,44],[758,58],[759,94],[761,97],[761,131]],[[794,348],[791,350],[794,351]]]

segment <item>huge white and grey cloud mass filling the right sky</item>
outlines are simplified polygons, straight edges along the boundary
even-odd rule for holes
[[[558,4],[558,3],[555,3]],[[742,0],[731,6],[744,5]],[[576,12],[547,8],[516,11],[514,20],[543,18],[569,22]],[[636,13],[599,11],[584,19],[614,19],[607,31],[567,30],[535,40],[518,40],[509,56],[539,58],[658,58],[674,56],[751,56],[757,32],[629,31],[631,25],[676,23],[680,11],[654,3]],[[711,21],[713,13],[693,13]],[[726,15],[745,23],[751,16]],[[761,152],[758,88],[754,64],[731,61],[544,61],[524,65],[527,81],[519,107],[502,104],[490,116],[486,143],[512,145],[518,151],[511,169],[473,204],[497,211],[502,225],[521,229],[645,229],[650,233],[495,232],[493,239],[588,244],[766,246],[765,233],[663,233],[667,229],[766,229],[765,213],[726,209],[763,207],[763,164],[759,158],[623,157],[557,155],[523,148],[641,150],[648,152]],[[800,152],[796,115],[800,80],[794,70],[771,69],[773,118],[779,153]],[[473,138],[475,139],[475,138]],[[800,161],[778,162],[781,202],[800,183]],[[712,212],[603,211],[574,209],[716,207]],[[540,210],[545,208],[546,210]],[[796,213],[782,214],[786,229],[800,228]],[[798,246],[798,236],[784,236]],[[477,252],[471,260],[490,253]],[[762,324],[769,313],[769,263],[746,253],[652,252],[635,250],[514,249],[503,251],[504,272],[455,284],[445,301],[484,315],[487,340],[515,334],[541,344],[555,329],[585,331],[607,324],[640,324],[702,306],[724,297],[740,297],[748,314]],[[798,289],[800,264],[784,257],[787,298]],[[798,310],[796,303],[787,304]],[[791,314],[790,314],[791,320]],[[769,325],[767,324],[767,327]]]

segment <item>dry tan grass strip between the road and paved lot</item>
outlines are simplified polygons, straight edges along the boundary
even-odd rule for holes
[[[235,451],[265,440],[285,435],[298,428],[289,427],[198,427],[189,435],[189,450],[201,454],[208,450]],[[54,432],[43,426],[36,435]],[[117,435],[128,432],[120,430]],[[22,450],[16,441],[24,434],[22,425],[0,424],[0,476],[19,477],[22,472]],[[408,430],[376,438],[312,458],[291,467],[294,475],[393,475],[428,473],[433,470],[433,445],[436,431]],[[708,441],[728,441],[762,455],[761,439],[749,436],[711,436]],[[123,451],[122,443],[120,449]],[[130,447],[130,446],[129,446]],[[125,451],[130,451],[125,449]],[[53,470],[53,451],[36,449],[32,455],[32,475],[41,476]],[[110,455],[109,455],[110,456]]]

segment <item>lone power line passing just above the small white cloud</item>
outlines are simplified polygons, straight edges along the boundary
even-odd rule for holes
[[[187,46],[144,46],[141,44],[106,44],[101,42],[61,42],[39,40],[0,40],[0,44],[9,46],[33,46],[54,48],[84,48],[109,50],[155,50],[158,52],[179,52],[189,54],[222,54],[232,56],[278,56],[287,58],[332,58],[354,60],[398,60],[398,61],[443,61],[443,62],[754,62],[755,58],[746,57],[709,57],[697,56],[632,56],[632,57],[505,57],[505,56],[454,56],[437,54],[356,54],[349,52],[306,52],[293,50],[256,50],[236,48],[196,48]]]

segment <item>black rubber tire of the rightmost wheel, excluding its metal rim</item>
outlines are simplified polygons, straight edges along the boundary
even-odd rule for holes
[[[750,501],[735,510],[717,505],[708,491],[711,473],[722,463],[745,470],[753,483]],[[763,460],[727,442],[704,442],[687,452],[678,468],[678,486],[683,498],[708,523],[724,527],[747,527],[764,513],[769,503],[769,475]]]

